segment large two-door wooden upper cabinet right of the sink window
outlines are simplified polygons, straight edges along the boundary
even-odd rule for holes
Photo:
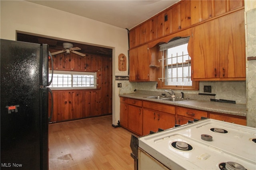
[[[245,80],[243,11],[196,26],[193,46],[193,80]]]

